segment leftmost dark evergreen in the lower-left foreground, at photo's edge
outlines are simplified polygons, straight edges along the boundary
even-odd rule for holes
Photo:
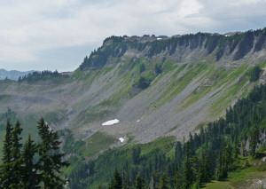
[[[12,125],[6,122],[2,165],[0,167],[0,188],[12,185]]]

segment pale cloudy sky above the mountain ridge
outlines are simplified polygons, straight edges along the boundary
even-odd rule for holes
[[[266,27],[266,0],[0,1],[0,68],[74,71],[111,35]]]

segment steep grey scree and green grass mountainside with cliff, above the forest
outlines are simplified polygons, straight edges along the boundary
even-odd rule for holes
[[[11,107],[29,132],[44,116],[54,129],[69,128],[85,141],[98,132],[126,142],[181,139],[223,115],[254,84],[265,83],[264,71],[250,82],[255,65],[266,67],[265,43],[266,28],[233,35],[112,36],[73,75],[2,81],[0,112]],[[118,124],[101,125],[115,118]]]

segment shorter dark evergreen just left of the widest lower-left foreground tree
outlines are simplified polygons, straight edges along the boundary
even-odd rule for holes
[[[37,148],[31,136],[28,135],[27,141],[22,152],[22,180],[23,188],[35,189],[40,183],[40,177],[37,174],[37,165],[34,164],[34,156],[37,153]]]

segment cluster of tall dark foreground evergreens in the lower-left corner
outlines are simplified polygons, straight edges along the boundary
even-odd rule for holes
[[[2,164],[0,165],[0,188],[63,188],[66,179],[61,177],[63,167],[69,163],[62,161],[59,152],[58,133],[51,130],[44,119],[37,125],[37,142],[28,135],[21,144],[21,124],[6,122]]]

